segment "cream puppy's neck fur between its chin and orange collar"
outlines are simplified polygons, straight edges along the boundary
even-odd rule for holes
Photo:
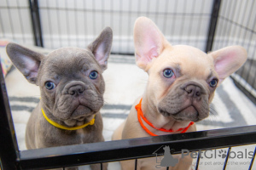
[[[143,94],[142,101],[142,111],[143,115],[151,122],[154,127],[157,128],[165,128],[166,130],[177,131],[179,128],[188,127],[190,121],[181,121],[177,122],[170,116],[163,116],[157,110],[156,104],[150,98],[148,98],[147,94]]]

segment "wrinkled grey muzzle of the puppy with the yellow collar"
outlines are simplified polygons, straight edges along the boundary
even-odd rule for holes
[[[62,120],[82,120],[102,107],[102,97],[89,84],[81,81],[68,82],[56,102],[55,116]]]

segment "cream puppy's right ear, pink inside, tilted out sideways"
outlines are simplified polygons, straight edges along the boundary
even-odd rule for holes
[[[214,59],[214,67],[218,73],[219,82],[237,71],[247,60],[247,51],[241,46],[221,48],[210,55]]]

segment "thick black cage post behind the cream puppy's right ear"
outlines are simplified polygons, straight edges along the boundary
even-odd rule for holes
[[[212,50],[212,43],[215,36],[216,26],[218,22],[218,14],[219,14],[219,8],[221,5],[221,0],[214,0],[212,4],[212,14],[211,14],[211,20],[209,25],[209,31],[207,35],[207,47],[205,52]]]

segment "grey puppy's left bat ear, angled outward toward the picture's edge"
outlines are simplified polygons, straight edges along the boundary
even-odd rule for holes
[[[39,66],[41,60],[44,59],[44,54],[39,54],[15,43],[9,43],[6,52],[27,81],[36,84]]]

